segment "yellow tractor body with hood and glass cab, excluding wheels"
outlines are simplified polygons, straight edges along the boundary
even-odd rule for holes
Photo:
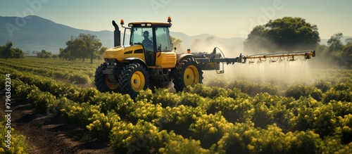
[[[124,21],[120,24],[124,27]],[[120,30],[113,21],[114,48],[105,51],[106,63],[141,63],[145,68],[175,68],[176,53],[172,51],[168,23],[135,22],[125,28],[124,38],[120,39]],[[130,30],[130,45],[125,46],[126,30]],[[122,43],[122,44],[121,44]],[[113,67],[113,66],[111,66]]]

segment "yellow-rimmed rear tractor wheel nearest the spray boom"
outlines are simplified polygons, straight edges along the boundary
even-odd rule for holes
[[[177,67],[172,69],[176,91],[182,91],[186,86],[201,84],[203,80],[203,71],[193,57],[186,57],[180,60]]]

